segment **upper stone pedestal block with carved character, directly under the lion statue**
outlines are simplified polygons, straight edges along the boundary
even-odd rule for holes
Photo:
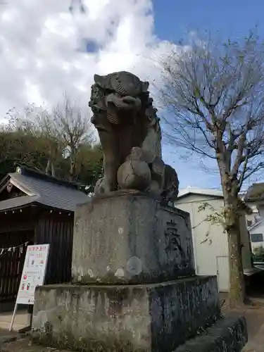
[[[73,282],[154,283],[195,274],[189,213],[139,192],[77,206]]]

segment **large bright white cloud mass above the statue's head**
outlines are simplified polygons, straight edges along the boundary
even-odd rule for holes
[[[168,42],[153,34],[151,0],[6,0],[0,4],[0,116],[64,92],[89,101],[94,73],[130,70],[158,80]],[[87,53],[89,42],[96,51]]]

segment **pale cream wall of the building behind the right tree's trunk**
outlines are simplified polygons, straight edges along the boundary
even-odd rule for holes
[[[223,231],[222,225],[211,224],[205,221],[206,216],[212,214],[210,208],[199,212],[199,206],[203,203],[209,203],[216,211],[221,211],[223,200],[220,197],[204,196],[198,194],[189,194],[177,199],[175,206],[190,213],[191,227],[194,244],[194,260],[196,264],[197,275],[218,275],[219,263],[224,263],[228,269],[228,243],[227,234]],[[246,219],[241,217],[241,242],[244,244],[242,249],[244,268],[251,268],[251,250],[249,244],[249,235],[246,230]],[[226,271],[226,269],[225,269]],[[226,291],[229,282],[229,273],[227,270],[225,280],[221,279],[222,287],[220,291]],[[225,281],[225,283],[224,283]],[[221,284],[218,282],[218,285]]]

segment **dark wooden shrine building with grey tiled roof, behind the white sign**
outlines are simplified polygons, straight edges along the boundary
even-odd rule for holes
[[[15,302],[27,244],[50,244],[46,284],[69,282],[73,220],[87,194],[25,167],[0,182],[0,311]]]

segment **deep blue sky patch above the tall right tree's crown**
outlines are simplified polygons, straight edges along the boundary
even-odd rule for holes
[[[153,0],[158,37],[177,41],[189,30],[218,31],[223,38],[241,37],[255,25],[264,34],[261,0]]]

